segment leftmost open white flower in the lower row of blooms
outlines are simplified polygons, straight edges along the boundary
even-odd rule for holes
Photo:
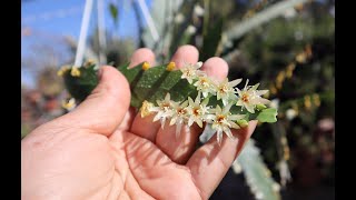
[[[158,107],[151,107],[149,109],[150,112],[157,112],[154,118],[154,121],[160,120],[161,128],[166,123],[166,119],[172,116],[172,107],[175,101],[170,100],[170,94],[167,93],[164,100],[157,100]]]

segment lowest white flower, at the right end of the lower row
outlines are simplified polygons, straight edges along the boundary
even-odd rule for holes
[[[221,109],[220,106],[217,106],[216,109],[214,109],[215,114],[209,114],[207,117],[207,119],[212,122],[211,129],[217,132],[216,136],[219,144],[221,143],[222,132],[225,132],[229,138],[234,138],[230,128],[240,128],[234,121],[240,120],[245,117],[244,114],[231,114],[229,111],[231,106],[233,104],[229,103],[224,109]]]

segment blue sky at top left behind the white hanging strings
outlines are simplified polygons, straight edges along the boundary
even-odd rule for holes
[[[130,0],[103,0],[105,19],[107,31],[119,37],[137,38],[137,22]],[[71,36],[78,40],[85,0],[31,0],[21,4],[21,27],[31,30],[28,37],[21,37],[21,54],[27,57],[31,53],[30,46],[38,42],[53,42],[63,36]],[[119,26],[115,27],[109,13],[109,3],[116,2],[119,7]],[[150,0],[146,0],[148,6]],[[89,34],[97,24],[97,1],[93,1],[90,19]],[[31,83],[28,71],[22,70],[22,81]]]

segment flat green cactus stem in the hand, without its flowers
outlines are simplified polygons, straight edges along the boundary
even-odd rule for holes
[[[171,99],[177,102],[185,101],[188,97],[196,99],[198,93],[196,87],[190,84],[186,79],[181,79],[182,73],[180,70],[168,71],[168,63],[144,70],[142,64],[144,62],[136,67],[128,68],[129,63],[125,63],[117,68],[130,84],[132,107],[141,107],[145,100],[156,103],[157,100],[164,99],[168,92]],[[98,84],[97,70],[95,67],[96,66],[92,64],[87,68],[79,68],[79,77],[72,77],[70,74],[71,69],[67,70],[63,74],[65,84],[69,93],[79,102],[85,100]],[[215,96],[210,97],[208,106],[216,107],[217,104],[224,107],[221,100],[217,100]],[[273,108],[248,113],[246,109],[233,104],[230,112],[233,114],[246,114],[246,121],[254,119],[260,122],[277,121],[277,110]]]

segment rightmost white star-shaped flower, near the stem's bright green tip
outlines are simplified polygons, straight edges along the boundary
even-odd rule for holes
[[[243,90],[239,90],[238,88],[236,89],[239,96],[239,99],[236,106],[240,106],[241,109],[246,108],[247,111],[255,113],[256,104],[267,104],[270,102],[269,100],[260,97],[267,93],[268,90],[257,90],[259,83],[255,86],[247,86],[247,84],[248,84],[248,79],[246,80],[246,84]]]

